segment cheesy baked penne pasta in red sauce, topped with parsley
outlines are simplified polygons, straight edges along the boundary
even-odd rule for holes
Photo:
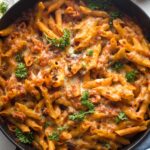
[[[0,36],[0,116],[16,141],[117,150],[148,129],[150,43],[110,1],[40,1]]]

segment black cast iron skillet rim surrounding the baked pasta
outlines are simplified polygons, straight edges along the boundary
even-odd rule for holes
[[[21,12],[27,8],[33,7],[38,0],[20,0],[16,3],[0,20],[0,29],[3,29],[13,23],[17,17],[21,15]],[[96,0],[97,2],[100,0]],[[131,16],[143,29],[143,32],[148,40],[150,40],[150,18],[134,3],[130,0],[112,0],[115,5],[126,14]],[[0,129],[5,136],[14,143],[16,150],[33,150],[30,145],[24,145],[16,142],[15,136],[7,129],[5,122],[0,118]],[[132,144],[125,147],[123,150],[133,150],[150,132],[148,129],[145,132],[138,134],[132,139]]]

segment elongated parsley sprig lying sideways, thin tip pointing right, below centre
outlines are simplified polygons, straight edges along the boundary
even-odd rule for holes
[[[89,110],[86,112],[80,111],[80,112],[77,112],[77,113],[70,115],[69,119],[72,121],[83,121],[87,114],[92,114],[93,112],[94,112],[94,110]]]

